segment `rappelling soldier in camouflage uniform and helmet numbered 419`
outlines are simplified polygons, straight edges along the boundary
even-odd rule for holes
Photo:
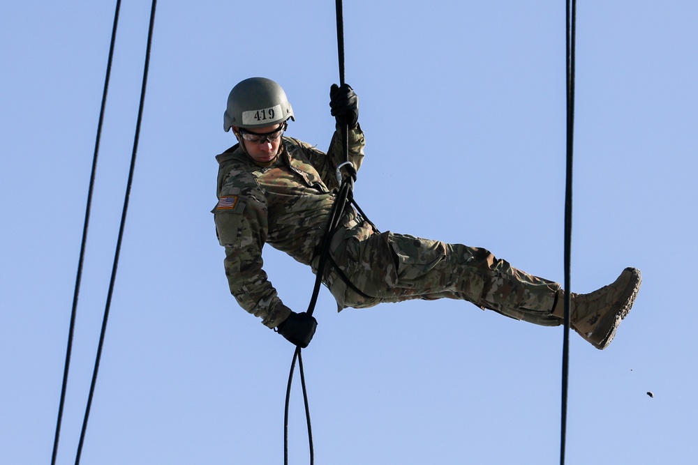
[[[358,98],[346,84],[333,84],[330,107],[336,130],[327,153],[283,133],[295,121],[276,82],[252,77],[228,96],[223,128],[238,144],[218,160],[218,241],[225,247],[230,291],[244,310],[297,346],[306,347],[317,321],[283,305],[262,269],[262,246],[320,266],[320,243],[336,192],[336,167],[343,160],[341,128],[348,126],[348,157],[355,169],[364,158]],[[346,307],[371,307],[408,299],[468,300],[482,309],[543,326],[563,321],[560,284],[513,268],[488,250],[380,233],[348,205],[329,245],[322,282]],[[591,294],[572,294],[571,323],[581,337],[604,349],[630,311],[641,283],[636,268]]]

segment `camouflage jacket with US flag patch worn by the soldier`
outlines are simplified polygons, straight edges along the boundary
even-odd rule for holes
[[[283,137],[280,151],[270,167],[255,165],[239,145],[217,155],[218,204],[212,211],[218,241],[225,247],[230,292],[269,328],[288,317],[288,310],[279,305],[262,269],[262,247],[269,243],[315,272],[339,188],[336,165],[345,161],[339,130],[327,154],[291,137]],[[349,132],[349,160],[359,169],[363,158],[364,135],[357,127]],[[354,218],[348,211],[346,220]]]

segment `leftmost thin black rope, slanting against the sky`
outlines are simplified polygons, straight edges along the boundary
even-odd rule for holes
[[[84,224],[82,226],[82,243],[80,243],[80,257],[77,260],[77,275],[75,277],[75,291],[73,292],[73,310],[70,312],[70,328],[68,329],[68,347],[66,349],[66,363],[63,370],[63,386],[61,386],[61,400],[58,406],[58,419],[56,421],[56,435],[53,441],[53,454],[51,464],[56,464],[58,455],[58,443],[61,436],[61,422],[63,420],[63,409],[66,403],[66,390],[68,388],[68,372],[70,371],[70,354],[73,351],[73,335],[75,334],[75,317],[77,316],[77,300],[80,295],[80,282],[82,282],[82,265],[84,263],[85,247],[87,245],[87,229],[89,227],[89,217],[92,208],[92,194],[94,192],[94,180],[97,172],[97,158],[99,154],[99,144],[102,136],[102,125],[107,103],[107,91],[109,89],[109,78],[112,73],[112,59],[114,57],[114,44],[117,38],[117,25],[119,24],[119,10],[121,0],[117,0],[114,10],[114,24],[112,26],[112,39],[109,44],[109,58],[107,59],[107,72],[104,78],[104,90],[102,91],[102,103],[99,110],[99,121],[97,123],[97,136],[94,142],[94,155],[92,157],[92,170],[89,178],[89,189],[87,190],[87,206],[85,207]]]

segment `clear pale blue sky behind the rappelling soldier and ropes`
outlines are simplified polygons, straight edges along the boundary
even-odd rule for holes
[[[59,464],[75,461],[133,147],[150,2],[124,0]],[[114,2],[0,6],[0,462],[50,463]],[[564,1],[346,1],[379,229],[563,280]],[[644,284],[616,340],[572,333],[567,464],[698,456],[698,3],[580,1],[572,291]],[[160,1],[83,464],[283,463],[293,347],[241,310],[211,209],[228,92],[265,76],[326,149],[334,2]],[[311,271],[267,247],[283,301]],[[555,464],[562,328],[455,300],[336,312],[304,367],[318,464]],[[653,392],[650,397],[646,392]],[[296,374],[290,463],[309,461]]]

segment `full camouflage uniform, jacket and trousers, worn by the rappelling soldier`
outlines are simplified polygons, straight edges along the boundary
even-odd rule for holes
[[[269,167],[255,165],[237,145],[218,155],[219,201],[213,210],[230,291],[269,328],[281,323],[288,309],[279,305],[262,269],[262,246],[269,243],[316,272],[339,188],[335,167],[344,161],[339,130],[327,154],[291,137],[282,138],[279,150]],[[349,160],[359,169],[363,158],[364,135],[357,127],[349,133]],[[560,324],[551,315],[558,284],[512,268],[482,248],[379,233],[350,206],[330,255],[323,282],[339,310],[456,298],[516,319]]]

